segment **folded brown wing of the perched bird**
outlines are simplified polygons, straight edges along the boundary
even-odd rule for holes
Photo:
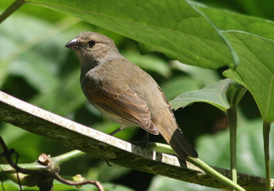
[[[108,114],[119,118],[126,123],[138,125],[158,134],[158,129],[151,121],[151,114],[147,102],[138,97],[130,87],[104,86],[103,88],[88,88],[86,91],[88,99],[96,103]]]

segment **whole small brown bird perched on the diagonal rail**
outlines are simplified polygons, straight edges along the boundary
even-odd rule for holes
[[[112,39],[84,32],[66,44],[81,63],[80,82],[86,99],[105,116],[121,124],[111,135],[129,125],[164,137],[177,155],[198,157],[177,126],[171,105],[154,79],[123,58]]]

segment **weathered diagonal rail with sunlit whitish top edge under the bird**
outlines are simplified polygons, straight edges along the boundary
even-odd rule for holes
[[[0,120],[127,168],[203,186],[229,189],[189,162],[185,164],[175,156],[149,151],[108,136],[25,103],[1,91]],[[214,169],[226,177],[230,177],[230,170],[216,167]],[[238,176],[238,184],[247,190],[262,190],[265,186],[264,178],[243,173],[238,173]],[[273,182],[272,179],[272,185]]]

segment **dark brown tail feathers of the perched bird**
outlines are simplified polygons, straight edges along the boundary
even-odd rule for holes
[[[197,151],[192,147],[192,144],[188,141],[186,136],[177,128],[173,135],[171,136],[171,140],[169,141],[169,145],[175,151],[175,153],[182,158],[182,160],[186,160],[189,157],[198,157]]]

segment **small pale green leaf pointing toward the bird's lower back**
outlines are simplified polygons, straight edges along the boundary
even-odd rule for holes
[[[226,96],[227,88],[230,84],[232,84],[231,79],[223,79],[201,90],[180,94],[170,101],[171,107],[177,110],[179,107],[186,107],[190,103],[206,102],[225,112],[230,107]]]

